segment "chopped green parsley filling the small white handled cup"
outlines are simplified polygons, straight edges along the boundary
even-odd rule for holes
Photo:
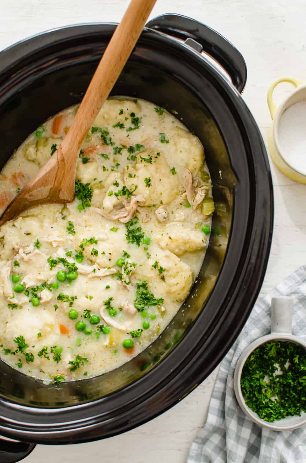
[[[305,371],[306,353],[300,345],[288,341],[262,344],[251,352],[241,373],[246,405],[269,422],[300,415],[306,410]]]

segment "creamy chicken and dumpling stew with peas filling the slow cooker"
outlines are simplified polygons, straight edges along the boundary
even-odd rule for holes
[[[0,174],[0,209],[47,162],[78,107]],[[76,196],[0,229],[0,357],[55,382],[99,375],[165,329],[202,265],[214,210],[199,139],[145,100],[109,99],[80,151]]]

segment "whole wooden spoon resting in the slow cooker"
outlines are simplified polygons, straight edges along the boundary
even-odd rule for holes
[[[49,161],[6,207],[0,225],[39,204],[72,202],[81,145],[146,24],[156,0],[131,0],[80,104],[78,112]]]

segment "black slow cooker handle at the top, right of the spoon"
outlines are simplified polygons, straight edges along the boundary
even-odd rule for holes
[[[203,51],[214,58],[231,77],[233,85],[242,93],[246,82],[246,64],[241,53],[226,38],[195,19],[167,13],[151,19],[146,27],[183,40],[192,38]]]

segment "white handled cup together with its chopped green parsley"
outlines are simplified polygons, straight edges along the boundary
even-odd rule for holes
[[[272,298],[271,334],[242,352],[234,373],[242,410],[274,431],[306,423],[306,342],[292,335],[292,317],[292,298]]]

